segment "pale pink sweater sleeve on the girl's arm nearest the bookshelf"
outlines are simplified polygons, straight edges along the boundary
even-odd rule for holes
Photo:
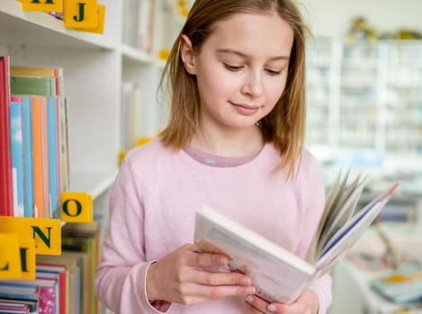
[[[95,276],[98,299],[115,313],[162,313],[148,301],[146,279],[153,261],[145,257],[143,222],[142,202],[126,158],[112,188],[109,233]]]

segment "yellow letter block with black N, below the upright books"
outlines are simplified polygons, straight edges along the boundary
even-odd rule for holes
[[[52,218],[0,216],[0,232],[35,240],[35,254],[61,254],[61,221]]]

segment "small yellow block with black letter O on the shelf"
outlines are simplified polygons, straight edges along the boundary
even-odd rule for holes
[[[93,197],[84,192],[61,194],[61,219],[64,222],[93,222]]]

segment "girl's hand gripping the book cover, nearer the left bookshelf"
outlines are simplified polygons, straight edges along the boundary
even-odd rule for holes
[[[228,266],[229,259],[220,254],[199,253],[186,244],[149,266],[148,300],[195,304],[234,295],[254,294],[247,275],[209,272],[202,268]]]

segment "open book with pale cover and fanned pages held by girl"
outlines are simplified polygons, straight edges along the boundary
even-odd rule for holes
[[[261,298],[291,303],[355,244],[398,186],[394,184],[356,211],[365,179],[358,176],[347,185],[347,177],[337,176],[305,259],[208,206],[196,212],[195,244],[204,252],[229,256],[230,270],[250,275]]]

